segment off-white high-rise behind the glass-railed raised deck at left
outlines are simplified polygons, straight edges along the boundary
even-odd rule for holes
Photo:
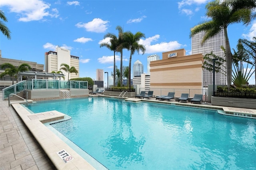
[[[70,55],[70,50],[64,49],[61,47],[57,47],[56,51],[46,52],[45,55],[45,72],[51,73],[52,71],[58,72],[62,71],[65,75],[65,80],[68,80],[68,73],[64,70],[60,70],[62,63],[69,65],[69,67],[75,67],[78,71],[76,73],[70,73],[69,79],[78,78],[79,77],[79,57],[74,55]]]

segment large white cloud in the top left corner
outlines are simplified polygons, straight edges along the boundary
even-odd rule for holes
[[[58,17],[58,10],[47,11],[50,4],[42,0],[1,0],[0,6],[8,6],[10,12],[19,14],[19,21],[29,22],[42,20],[46,16]]]

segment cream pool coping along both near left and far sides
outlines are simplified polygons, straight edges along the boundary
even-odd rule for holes
[[[104,95],[94,95],[89,97],[105,97],[118,99],[118,97],[104,96]],[[159,104],[168,104],[176,106],[185,107],[197,107],[202,109],[214,109],[217,110],[219,114],[231,115],[238,117],[246,117],[256,119],[255,109],[242,109],[242,108],[232,108],[232,107],[222,107],[222,106],[212,106],[212,105],[200,105],[191,103],[177,103],[171,101],[157,101],[150,99],[136,99],[136,98],[126,98],[122,99],[125,102],[150,102]],[[68,144],[66,144],[62,139],[60,139],[54,132],[47,128],[43,123],[64,120],[65,114],[58,111],[48,111],[43,113],[31,114],[27,109],[22,107],[19,103],[12,104],[12,107],[16,110],[26,127],[30,130],[33,136],[36,138],[40,146],[44,149],[54,166],[59,170],[66,169],[78,169],[78,170],[94,170],[91,164],[89,164],[82,156],[80,156],[76,151],[74,151]],[[247,116],[243,116],[247,115]],[[248,117],[248,115],[252,115]],[[64,162],[60,156],[57,154],[61,150],[66,150],[74,159],[69,162]]]

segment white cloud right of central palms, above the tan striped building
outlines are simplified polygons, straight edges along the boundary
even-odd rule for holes
[[[145,40],[140,39],[140,44],[144,45],[146,48],[145,53],[157,53],[162,51],[171,51],[175,49],[180,49],[182,44],[178,43],[178,41],[170,41],[170,42],[160,42],[154,45],[151,45],[152,42],[156,42],[160,38],[160,35],[155,35],[150,38],[146,38]]]

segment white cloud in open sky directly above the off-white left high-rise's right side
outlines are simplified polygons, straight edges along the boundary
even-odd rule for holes
[[[91,22],[82,23],[79,22],[76,24],[76,27],[78,28],[85,28],[86,31],[89,32],[105,32],[108,29],[108,22],[109,21],[103,21],[100,18],[94,18]]]

